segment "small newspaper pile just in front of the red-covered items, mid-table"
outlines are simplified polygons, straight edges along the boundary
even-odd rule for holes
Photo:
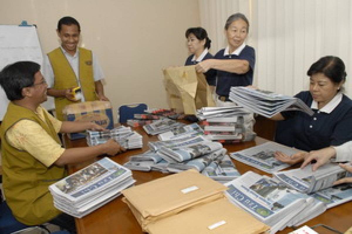
[[[149,135],[158,135],[169,132],[184,126],[184,123],[177,122],[172,119],[154,120],[152,123],[144,125],[143,129]]]

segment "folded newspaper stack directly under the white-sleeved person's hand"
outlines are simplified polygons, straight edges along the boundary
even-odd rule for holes
[[[312,193],[332,187],[333,182],[346,177],[347,171],[336,163],[329,163],[313,172],[312,164],[303,169],[276,172],[275,177],[301,193]]]

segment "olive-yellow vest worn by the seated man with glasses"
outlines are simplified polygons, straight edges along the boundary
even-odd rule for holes
[[[26,225],[39,225],[61,212],[54,207],[48,186],[66,176],[65,169],[44,166],[26,151],[8,143],[7,130],[22,119],[37,122],[56,141],[60,142],[48,116],[44,123],[30,109],[9,103],[1,123],[2,187],[8,206],[16,219]]]

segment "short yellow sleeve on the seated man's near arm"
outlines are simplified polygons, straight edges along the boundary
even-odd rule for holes
[[[65,151],[38,123],[31,120],[17,122],[8,129],[6,137],[13,147],[27,151],[47,167]]]

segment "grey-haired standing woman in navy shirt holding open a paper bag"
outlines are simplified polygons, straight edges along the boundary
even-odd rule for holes
[[[216,69],[216,94],[219,100],[230,101],[231,86],[251,86],[255,63],[254,48],[246,45],[249,21],[244,14],[231,15],[225,24],[228,46],[220,49],[214,59],[204,60],[196,65],[198,72]]]

